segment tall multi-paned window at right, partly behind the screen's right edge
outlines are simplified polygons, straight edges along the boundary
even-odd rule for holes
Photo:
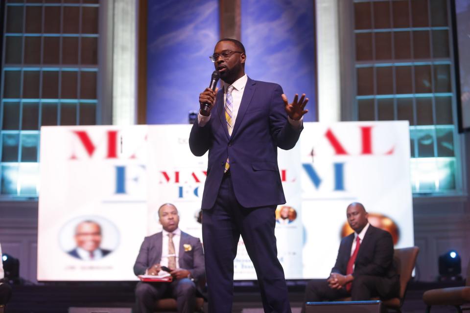
[[[417,193],[461,190],[447,0],[354,0],[358,120],[408,120]]]

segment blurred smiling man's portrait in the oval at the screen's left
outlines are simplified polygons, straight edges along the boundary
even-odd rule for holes
[[[67,253],[74,258],[86,261],[104,258],[111,251],[100,248],[102,237],[100,224],[91,220],[80,222],[75,227],[75,243],[77,246]]]

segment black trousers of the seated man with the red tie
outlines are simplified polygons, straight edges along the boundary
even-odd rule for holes
[[[378,296],[380,299],[398,297],[400,293],[400,281],[397,279],[379,276],[361,275],[354,278],[351,293],[345,288],[331,289],[327,280],[311,280],[305,287],[305,301],[302,313],[305,312],[305,302],[334,301],[351,297],[352,301],[367,301]]]

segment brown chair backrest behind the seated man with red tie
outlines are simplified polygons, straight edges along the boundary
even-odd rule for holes
[[[419,251],[420,248],[417,246],[395,249],[393,257],[397,271],[400,274],[400,302],[403,302],[405,297],[406,287],[411,280],[411,274],[413,273],[413,268],[415,268]]]

